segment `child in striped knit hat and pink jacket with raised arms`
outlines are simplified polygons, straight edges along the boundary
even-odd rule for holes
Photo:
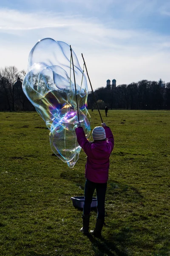
[[[96,227],[90,233],[96,237],[101,236],[105,221],[105,194],[108,181],[109,157],[113,150],[114,138],[111,129],[102,123],[92,131],[94,142],[90,143],[81,124],[76,128],[77,141],[85,151],[87,163],[85,165],[85,201],[83,206],[83,227],[80,231],[88,234],[91,202],[96,189],[97,195],[97,220]],[[107,138],[107,139],[106,139]]]

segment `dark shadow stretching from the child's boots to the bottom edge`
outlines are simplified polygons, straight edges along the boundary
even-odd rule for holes
[[[108,256],[128,256],[127,253],[120,251],[113,242],[107,241],[103,237],[96,239],[91,234],[88,234],[87,237],[91,241],[94,256],[104,256],[106,253]]]

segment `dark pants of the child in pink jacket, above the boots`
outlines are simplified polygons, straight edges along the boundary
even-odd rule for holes
[[[83,214],[90,214],[91,210],[91,202],[94,194],[94,190],[96,189],[97,194],[97,218],[100,220],[105,219],[105,195],[107,189],[106,183],[94,183],[90,180],[86,180],[85,182],[85,202],[83,206]]]

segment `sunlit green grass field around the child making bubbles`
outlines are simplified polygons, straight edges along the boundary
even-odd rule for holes
[[[85,153],[69,169],[36,112],[0,113],[0,256],[170,255],[170,111],[101,113],[115,138],[102,239],[79,231],[71,201],[84,192]],[[100,125],[97,111],[91,119]]]

